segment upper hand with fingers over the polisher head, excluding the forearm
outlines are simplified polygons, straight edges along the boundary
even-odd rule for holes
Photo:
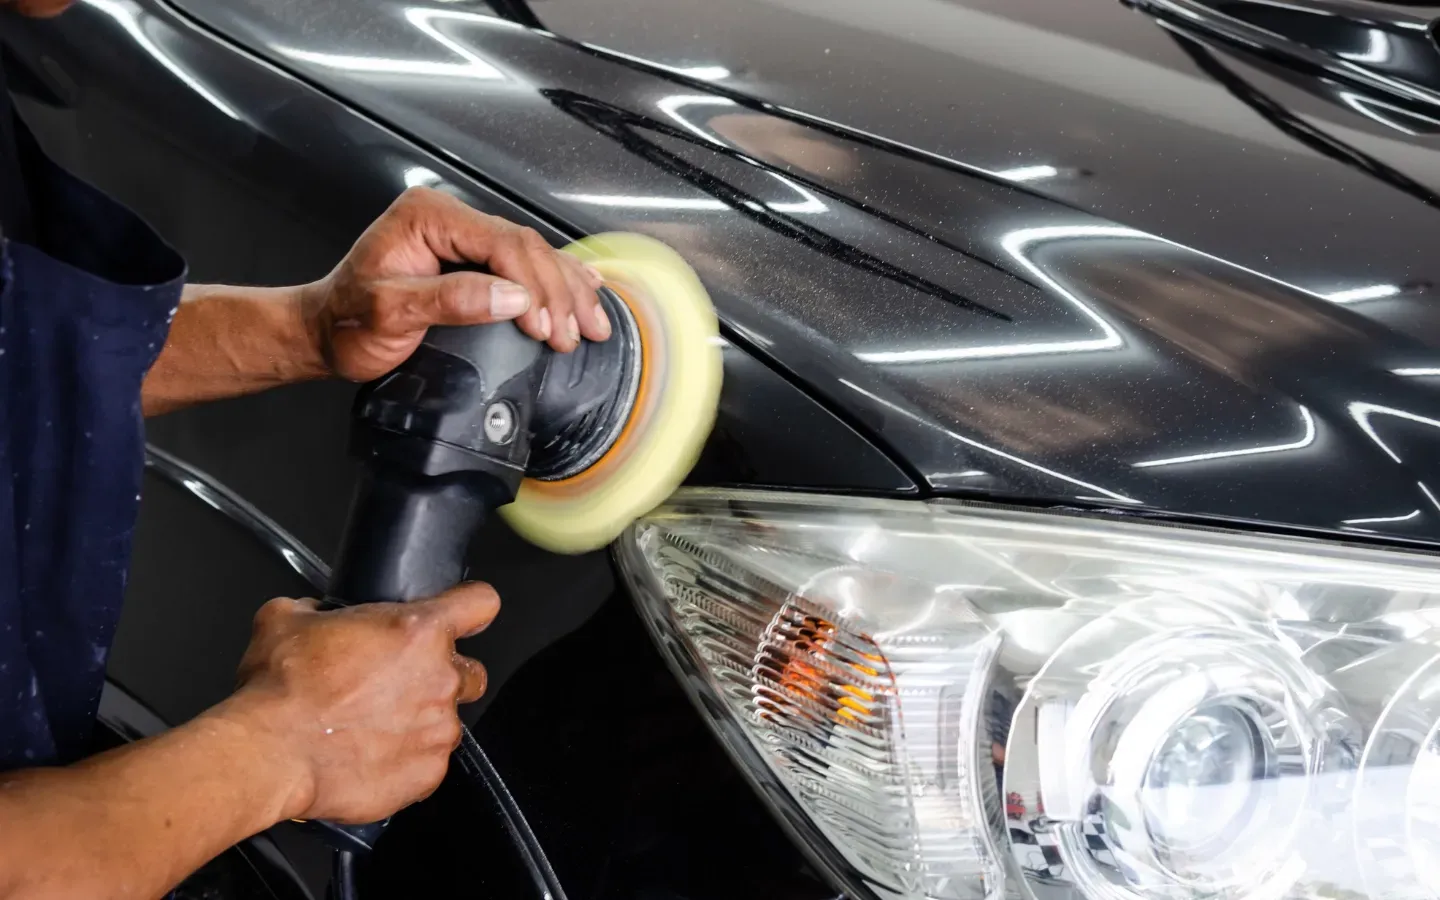
[[[451,272],[475,264],[490,274]],[[321,357],[353,382],[390,372],[431,325],[517,320],[560,351],[611,336],[600,276],[531,228],[487,216],[446,193],[413,187],[324,279],[305,288],[304,315]]]

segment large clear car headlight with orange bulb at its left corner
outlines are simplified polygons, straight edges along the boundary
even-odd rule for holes
[[[1437,557],[723,491],[619,557],[851,893],[1440,896]]]

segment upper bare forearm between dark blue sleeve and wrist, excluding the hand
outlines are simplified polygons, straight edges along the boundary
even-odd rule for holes
[[[145,415],[325,376],[301,292],[187,285],[141,390]]]

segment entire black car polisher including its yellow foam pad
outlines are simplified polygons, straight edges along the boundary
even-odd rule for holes
[[[611,338],[556,353],[513,323],[431,328],[356,397],[364,472],[327,600],[433,596],[465,576],[487,516],[557,553],[603,547],[694,467],[720,399],[719,323],[665,245],[606,233],[566,248],[600,272]],[[315,822],[369,850],[383,822]]]

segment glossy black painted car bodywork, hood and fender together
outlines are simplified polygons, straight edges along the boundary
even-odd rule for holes
[[[674,245],[729,338],[696,484],[1433,544],[1440,107],[1397,23],[1434,10],[1306,0],[1354,20],[1266,49],[1166,3],[82,0],[3,29],[46,145],[196,279],[315,278],[408,183],[556,242]],[[1371,30],[1391,56],[1349,59]],[[151,438],[330,559],[350,397],[307,384]],[[229,690],[253,609],[310,586],[183,469],[154,474],[112,675],[180,721]],[[492,685],[468,719],[567,896],[827,896],[605,554],[497,526],[469,562],[507,605],[467,647]],[[366,863],[367,896],[534,896],[497,812],[452,773]],[[318,890],[323,852],[276,831]]]

